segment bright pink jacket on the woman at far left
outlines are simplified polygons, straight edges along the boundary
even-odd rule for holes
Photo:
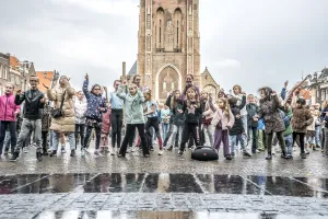
[[[0,120],[15,122],[15,113],[20,112],[21,107],[15,104],[15,96],[12,93],[0,96]]]

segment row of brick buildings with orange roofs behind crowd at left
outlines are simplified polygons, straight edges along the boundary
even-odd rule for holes
[[[32,61],[21,61],[15,56],[0,53],[0,95],[4,93],[7,82],[13,83],[15,90],[28,90],[30,76],[32,74],[38,76],[40,80],[39,90],[45,91],[42,84],[45,83],[50,87],[55,72],[56,70],[36,71]]]

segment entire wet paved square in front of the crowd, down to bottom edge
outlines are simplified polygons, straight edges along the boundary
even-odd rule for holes
[[[15,163],[0,159],[0,219],[327,218],[328,159],[265,155],[198,162],[190,151],[149,159],[78,151],[37,162],[30,148]]]

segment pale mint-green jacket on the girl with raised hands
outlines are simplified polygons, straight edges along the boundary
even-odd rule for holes
[[[125,104],[125,123],[126,124],[144,124],[143,103],[144,97],[141,91],[134,95],[126,93],[127,85],[120,85],[117,96],[124,100]]]

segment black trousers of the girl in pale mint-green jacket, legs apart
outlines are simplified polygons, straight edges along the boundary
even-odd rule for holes
[[[136,128],[138,128],[138,132],[141,138],[141,147],[142,147],[143,155],[149,154],[149,149],[147,147],[147,141],[144,137],[144,124],[127,124],[126,136],[119,150],[119,154],[121,154],[122,157],[125,157],[127,153],[129,139],[132,138],[133,132],[136,132]]]

